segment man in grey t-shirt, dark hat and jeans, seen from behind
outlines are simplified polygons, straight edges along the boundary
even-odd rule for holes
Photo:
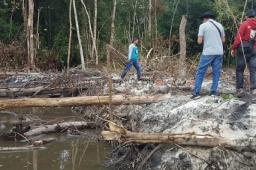
[[[198,44],[203,43],[203,52],[198,64],[196,72],[196,80],[194,87],[194,94],[191,99],[199,99],[201,92],[201,85],[203,77],[209,65],[212,65],[212,86],[210,89],[210,96],[216,96],[218,82],[220,80],[220,67],[223,58],[223,43],[225,43],[224,27],[214,21],[216,16],[206,12],[200,19],[203,24],[200,25],[198,31]]]

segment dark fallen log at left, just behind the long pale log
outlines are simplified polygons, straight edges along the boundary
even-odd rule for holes
[[[84,87],[85,88],[85,87]],[[88,89],[86,87],[86,89]],[[56,94],[70,92],[70,87],[31,87],[31,88],[1,88],[0,89],[0,98],[6,98],[10,96],[31,96],[36,93],[36,95],[42,94]]]

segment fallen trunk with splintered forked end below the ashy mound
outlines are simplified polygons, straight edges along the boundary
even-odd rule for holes
[[[117,141],[119,143],[176,143],[178,145],[193,145],[205,147],[225,147],[236,151],[256,151],[256,140],[246,138],[230,140],[211,135],[199,135],[194,133],[169,134],[169,133],[133,133],[124,127],[109,122],[110,131],[102,131],[104,140]]]

